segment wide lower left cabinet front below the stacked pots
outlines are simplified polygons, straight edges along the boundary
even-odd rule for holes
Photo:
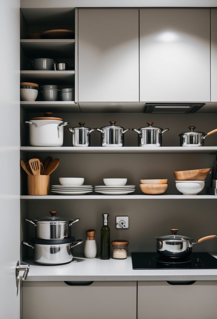
[[[136,319],[136,281],[67,283],[23,282],[23,319]]]

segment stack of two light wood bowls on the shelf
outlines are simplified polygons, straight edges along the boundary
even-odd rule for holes
[[[147,195],[160,195],[167,189],[167,179],[147,179],[140,180],[139,187]]]

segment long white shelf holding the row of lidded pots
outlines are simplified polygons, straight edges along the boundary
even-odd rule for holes
[[[162,146],[162,147],[139,147],[139,146],[124,146],[124,147],[46,147],[46,146],[21,146],[20,151],[27,153],[59,153],[59,154],[217,154],[217,146],[197,146],[197,147],[181,147],[181,146]]]

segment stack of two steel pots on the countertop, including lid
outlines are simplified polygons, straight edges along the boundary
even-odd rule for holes
[[[71,236],[71,225],[80,219],[57,217],[56,211],[50,211],[50,214],[41,219],[25,219],[36,227],[35,238],[22,243],[34,250],[36,263],[58,265],[71,262],[73,247],[83,242],[81,239],[75,241]]]

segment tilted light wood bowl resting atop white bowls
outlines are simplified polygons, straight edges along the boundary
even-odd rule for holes
[[[212,168],[193,169],[191,171],[174,172],[177,181],[203,181],[212,172]]]

